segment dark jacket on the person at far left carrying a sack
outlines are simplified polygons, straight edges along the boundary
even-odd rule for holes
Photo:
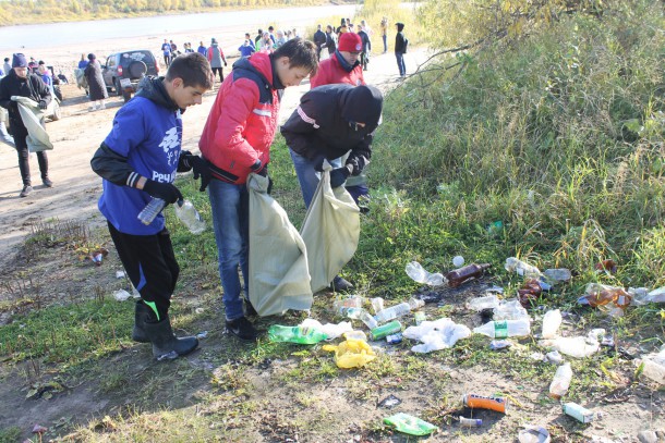
[[[0,81],[0,106],[9,110],[10,127],[25,130],[19,113],[19,103],[11,99],[12,96],[29,97],[37,102],[44,100],[46,104],[51,102],[51,93],[41,77],[28,74],[27,78],[21,78],[12,70]]]

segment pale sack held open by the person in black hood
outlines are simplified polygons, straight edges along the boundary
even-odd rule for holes
[[[343,186],[330,187],[330,164],[324,161],[323,168],[300,230],[307,245],[313,293],[327,287],[351,260],[360,238],[360,209]]]

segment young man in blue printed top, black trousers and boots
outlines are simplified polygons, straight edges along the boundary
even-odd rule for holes
[[[145,225],[138,213],[153,198],[182,199],[176,172],[208,176],[206,163],[181,150],[185,108],[201,104],[213,87],[208,60],[198,52],[173,59],[166,77],[149,78],[113,119],[113,128],[90,164],[104,179],[99,210],[130,280],[141,294],[132,339],[153,344],[158,358],[177,358],[198,346],[196,337],[178,339],[169,319],[170,298],[180,268],[164,216]],[[209,180],[209,179],[208,179]],[[203,190],[203,189],[202,189]]]

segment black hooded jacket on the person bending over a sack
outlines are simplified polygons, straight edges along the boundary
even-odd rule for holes
[[[310,90],[281,126],[289,148],[314,160],[349,153],[346,167],[358,175],[370,163],[372,138],[383,107],[382,93],[372,86],[325,85]],[[365,123],[355,130],[350,122]]]

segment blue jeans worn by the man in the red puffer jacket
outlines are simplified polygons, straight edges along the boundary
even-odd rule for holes
[[[245,298],[250,299],[250,196],[244,184],[234,185],[219,180],[210,181],[208,196],[219,257],[219,276],[223,288],[222,302],[226,318],[231,321],[244,316],[239,267],[244,280]]]

